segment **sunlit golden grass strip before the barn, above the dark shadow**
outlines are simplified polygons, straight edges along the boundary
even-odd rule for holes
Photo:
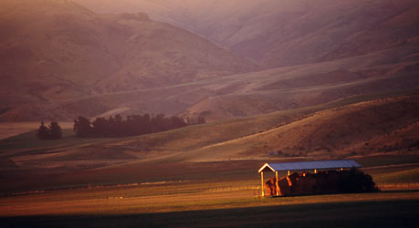
[[[231,186],[232,184],[236,187]],[[419,192],[260,198],[257,197],[256,188],[255,185],[249,185],[249,181],[203,181],[44,192],[0,198],[0,217],[40,214],[178,212],[324,202],[419,199]]]

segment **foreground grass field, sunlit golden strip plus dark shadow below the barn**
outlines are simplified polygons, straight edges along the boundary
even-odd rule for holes
[[[418,222],[419,191],[258,198],[254,189],[225,186],[165,183],[0,198],[0,227],[415,227]]]

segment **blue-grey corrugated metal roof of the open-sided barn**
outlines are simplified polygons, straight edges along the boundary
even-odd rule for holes
[[[305,171],[305,170],[326,170],[361,167],[356,161],[352,160],[336,160],[336,161],[304,161],[304,162],[288,162],[288,163],[266,163],[260,171],[269,169],[270,171]]]

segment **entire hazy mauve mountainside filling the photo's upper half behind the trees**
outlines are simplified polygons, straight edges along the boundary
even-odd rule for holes
[[[96,13],[0,3],[0,120],[212,121],[419,86],[416,1],[77,1]]]

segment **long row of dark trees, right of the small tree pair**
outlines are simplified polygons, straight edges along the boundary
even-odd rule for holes
[[[199,123],[203,123],[203,120],[200,119]],[[109,119],[97,118],[92,122],[81,116],[74,119],[74,131],[79,138],[127,137],[179,129],[187,125],[182,118],[165,117],[163,114],[132,115],[126,118],[116,115],[110,116]]]

